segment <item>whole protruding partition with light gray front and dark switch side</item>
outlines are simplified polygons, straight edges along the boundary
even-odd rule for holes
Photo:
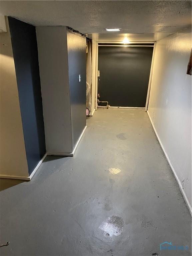
[[[86,38],[65,26],[36,34],[47,153],[73,155],[86,126]]]

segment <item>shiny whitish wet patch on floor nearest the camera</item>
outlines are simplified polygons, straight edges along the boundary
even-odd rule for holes
[[[125,221],[120,216],[111,216],[107,219],[107,221],[103,222],[99,228],[104,231],[105,236],[109,234],[109,236],[119,236],[124,228]]]

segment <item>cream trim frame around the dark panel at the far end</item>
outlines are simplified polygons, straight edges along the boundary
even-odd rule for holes
[[[102,43],[108,43],[108,44],[119,44],[121,42],[117,42],[117,41],[97,41],[97,51],[96,51],[96,73],[95,73],[95,110],[97,110],[97,89],[98,89],[98,49],[99,46],[115,46],[115,47],[125,47],[125,45],[101,45]],[[148,104],[149,104],[149,94],[150,94],[150,89],[151,89],[151,79],[152,79],[152,73],[153,73],[153,64],[154,64],[154,57],[155,57],[155,48],[156,48],[156,41],[131,41],[132,43],[136,43],[138,44],[137,46],[135,45],[126,45],[126,47],[153,47],[153,54],[152,54],[152,61],[151,61],[151,69],[150,69],[150,75],[149,75],[149,83],[148,83],[148,89],[147,89],[147,97],[146,97],[146,104],[145,107],[142,109],[145,109],[145,111],[147,111],[148,109]],[[100,45],[99,45],[100,44]],[[139,44],[153,44],[153,45],[139,45]],[[112,108],[112,107],[111,107]],[[114,107],[113,107],[114,108]],[[119,108],[135,108],[135,107],[119,107]]]

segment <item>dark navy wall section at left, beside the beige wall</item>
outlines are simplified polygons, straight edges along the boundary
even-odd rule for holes
[[[9,17],[29,174],[46,152],[35,27]]]

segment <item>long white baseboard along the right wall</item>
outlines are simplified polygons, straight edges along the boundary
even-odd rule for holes
[[[165,157],[166,157],[166,159],[167,159],[167,162],[168,162],[168,164],[169,164],[169,166],[170,166],[170,168],[171,168],[171,170],[172,170],[172,172],[173,172],[173,174],[174,174],[174,176],[175,176],[175,179],[176,179],[176,181],[177,181],[177,183],[178,183],[178,185],[179,185],[179,188],[180,188],[181,193],[182,193],[182,195],[183,195],[183,198],[184,198],[184,200],[185,200],[185,202],[186,202],[186,204],[187,204],[187,207],[188,207],[188,209],[189,209],[189,212],[190,212],[190,214],[192,215],[192,208],[191,208],[191,205],[190,205],[190,203],[189,203],[189,200],[188,200],[188,198],[187,198],[187,196],[186,196],[186,194],[185,194],[185,191],[183,190],[181,181],[179,180],[179,178],[178,178],[178,176],[177,176],[177,174],[176,174],[176,172],[175,172],[175,169],[174,169],[173,165],[171,164],[171,161],[170,161],[170,159],[169,159],[167,153],[165,152],[165,149],[164,149],[164,147],[163,147],[163,145],[162,145],[162,142],[161,142],[161,140],[160,140],[160,138],[159,138],[159,136],[158,136],[158,134],[157,134],[157,131],[156,131],[156,129],[155,129],[155,126],[153,125],[152,119],[151,119],[151,117],[150,117],[148,111],[147,111],[147,114],[148,114],[149,119],[150,119],[150,121],[151,121],[151,124],[152,124],[153,130],[154,130],[154,132],[155,132],[155,135],[156,135],[156,137],[157,137],[157,139],[158,139],[158,141],[159,141],[159,144],[160,144],[160,146],[161,146],[161,148],[162,148],[162,150],[163,150],[163,153],[164,153],[164,155],[165,155]]]

